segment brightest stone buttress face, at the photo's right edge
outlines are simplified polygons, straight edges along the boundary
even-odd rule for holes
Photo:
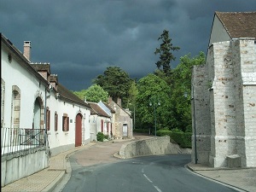
[[[252,39],[242,38],[234,42],[234,47],[241,53],[240,63],[236,63],[236,67],[240,67],[237,97],[242,98],[241,113],[237,114],[237,130],[241,133],[237,146],[241,152],[241,166],[256,167],[256,44]]]

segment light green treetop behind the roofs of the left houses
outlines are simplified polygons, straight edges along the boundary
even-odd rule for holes
[[[108,101],[108,91],[103,90],[98,84],[91,85],[88,90],[74,91],[73,93],[86,102]]]

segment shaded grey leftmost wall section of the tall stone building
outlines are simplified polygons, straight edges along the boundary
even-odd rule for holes
[[[207,67],[195,66],[192,69],[191,84],[191,109],[192,109],[192,153],[191,159],[195,163],[197,156],[198,163],[207,165],[211,150],[211,129],[209,96],[207,94]],[[207,92],[206,92],[207,91]],[[195,107],[195,108],[194,108]],[[195,111],[194,111],[195,109]],[[196,131],[195,131],[196,128]],[[196,134],[196,143],[195,143]],[[195,149],[196,144],[196,149]],[[195,155],[196,153],[196,155]]]

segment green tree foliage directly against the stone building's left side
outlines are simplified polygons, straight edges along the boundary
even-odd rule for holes
[[[172,119],[170,129],[178,127],[182,131],[192,131],[191,119],[191,67],[205,63],[205,55],[191,58],[191,55],[184,55],[180,58],[180,63],[172,70]],[[186,96],[185,96],[186,95]]]

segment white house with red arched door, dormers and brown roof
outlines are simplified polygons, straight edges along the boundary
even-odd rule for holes
[[[90,106],[59,84],[49,63],[31,63],[51,84],[47,97],[47,136],[50,154],[90,143]]]

